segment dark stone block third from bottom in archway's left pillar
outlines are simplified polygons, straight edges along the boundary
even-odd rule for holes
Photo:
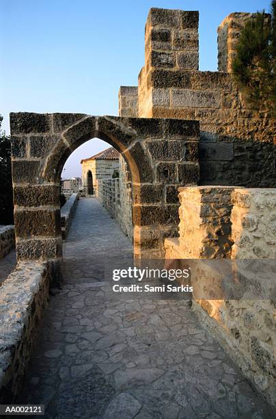
[[[14,205],[39,207],[40,205],[59,205],[59,201],[59,186],[14,186]]]

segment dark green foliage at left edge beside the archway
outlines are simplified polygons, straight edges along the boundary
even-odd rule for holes
[[[3,116],[0,115],[0,224],[14,223],[12,199],[12,162],[10,136],[1,131]]]

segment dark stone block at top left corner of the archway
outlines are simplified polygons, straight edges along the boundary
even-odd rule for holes
[[[12,112],[10,114],[11,134],[51,131],[51,115],[31,112]]]

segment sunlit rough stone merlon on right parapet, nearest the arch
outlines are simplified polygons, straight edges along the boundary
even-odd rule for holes
[[[188,259],[230,257],[232,187],[180,188],[180,246]]]

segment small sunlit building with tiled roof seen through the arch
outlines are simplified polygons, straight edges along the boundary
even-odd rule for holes
[[[113,147],[109,147],[92,157],[81,160],[85,194],[96,194],[99,179],[111,179],[113,173],[119,170],[119,157],[120,153]]]

